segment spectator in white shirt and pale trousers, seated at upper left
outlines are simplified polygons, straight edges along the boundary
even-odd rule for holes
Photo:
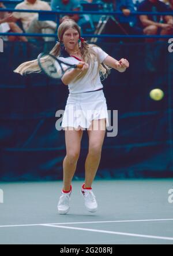
[[[50,5],[47,2],[40,0],[25,0],[19,3],[15,9],[21,10],[51,10]],[[57,28],[57,24],[54,21],[39,21],[38,13],[22,13],[13,12],[10,14],[6,21],[12,20],[14,22],[21,21],[22,27],[27,33],[45,33],[54,34]],[[54,38],[45,37],[45,41],[52,41]]]

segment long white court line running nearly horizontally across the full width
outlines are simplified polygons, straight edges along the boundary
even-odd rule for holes
[[[121,223],[121,222],[148,222],[148,221],[173,221],[173,219],[153,219],[153,220],[124,220],[124,221],[85,221],[85,222],[59,222],[59,223],[40,223],[40,224],[18,224],[1,225],[0,228],[13,228],[17,226],[43,226],[43,225],[68,225],[68,224],[96,224],[96,223]]]

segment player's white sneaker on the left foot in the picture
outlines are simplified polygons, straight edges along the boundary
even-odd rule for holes
[[[70,210],[70,195],[72,193],[72,188],[69,193],[61,192],[61,196],[58,202],[58,212],[59,214],[67,214]]]

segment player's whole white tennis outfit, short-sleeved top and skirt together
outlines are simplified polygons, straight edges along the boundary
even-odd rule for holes
[[[108,56],[100,47],[93,46],[93,50],[97,53],[102,63]],[[78,64],[80,60],[70,57],[59,57],[69,64]],[[97,74],[98,63],[95,62],[95,67],[89,66],[84,78],[77,82],[69,83],[69,96],[63,114],[61,127],[79,126],[88,129],[92,120],[106,119],[106,127],[109,126],[106,98],[103,93],[103,85],[100,80],[99,73]],[[96,78],[95,78],[96,76]],[[95,78],[93,80],[93,78]],[[100,90],[98,90],[100,89]]]

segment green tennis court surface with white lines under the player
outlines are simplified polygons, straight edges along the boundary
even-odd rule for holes
[[[95,180],[93,214],[81,185],[73,181],[70,211],[59,215],[62,181],[0,183],[0,244],[173,244],[172,179]]]

